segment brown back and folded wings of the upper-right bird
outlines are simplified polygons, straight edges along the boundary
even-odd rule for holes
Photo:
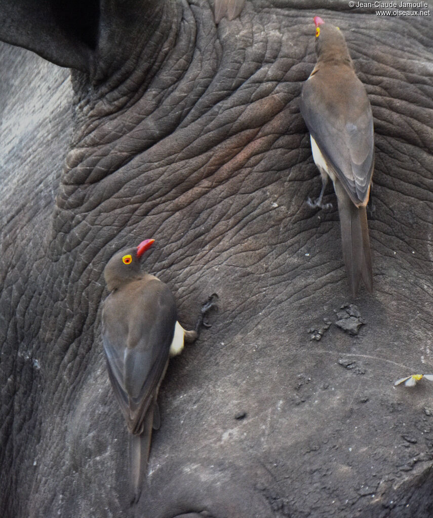
[[[349,66],[321,67],[304,83],[300,111],[353,203],[365,205],[373,174],[374,137],[362,82]]]

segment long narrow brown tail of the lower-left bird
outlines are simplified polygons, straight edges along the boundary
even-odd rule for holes
[[[147,481],[147,466],[153,424],[153,405],[151,407],[145,417],[143,433],[141,435],[129,435],[129,473],[132,502],[138,502],[143,483]]]

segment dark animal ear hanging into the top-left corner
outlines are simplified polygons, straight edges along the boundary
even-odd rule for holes
[[[144,20],[162,0],[0,0],[0,40],[93,78],[107,76],[131,53]],[[139,27],[141,26],[141,32]],[[156,30],[156,29],[155,29]]]

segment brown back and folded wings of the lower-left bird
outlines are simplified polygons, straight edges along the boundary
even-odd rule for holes
[[[156,280],[138,280],[104,303],[103,344],[114,394],[129,430],[143,420],[167,368],[177,320],[175,300]]]

